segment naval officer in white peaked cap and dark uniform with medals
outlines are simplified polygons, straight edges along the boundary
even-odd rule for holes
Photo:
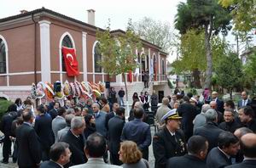
[[[166,162],[174,156],[183,156],[186,153],[185,136],[180,130],[180,117],[177,109],[172,109],[162,117],[166,126],[153,137],[154,167],[166,167]]]

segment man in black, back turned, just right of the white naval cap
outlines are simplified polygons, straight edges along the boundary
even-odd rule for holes
[[[195,116],[198,115],[197,110],[194,105],[189,104],[189,97],[183,97],[184,103],[180,104],[177,108],[177,113],[181,117],[181,128],[185,134],[186,140],[193,135],[193,120]]]

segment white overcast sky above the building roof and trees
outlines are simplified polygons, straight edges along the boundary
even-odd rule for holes
[[[111,29],[125,30],[128,20],[138,21],[143,17],[168,22],[174,29],[174,18],[177,4],[186,0],[0,0],[0,18],[20,14],[20,10],[28,11],[36,8],[49,8],[76,20],[87,22],[88,9],[96,10],[96,26],[106,28],[108,19]],[[145,23],[147,24],[147,23]],[[227,38],[231,43],[234,36]],[[176,56],[171,58],[175,59]]]

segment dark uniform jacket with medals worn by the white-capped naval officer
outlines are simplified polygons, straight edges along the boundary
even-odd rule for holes
[[[182,130],[175,132],[175,137],[172,137],[166,126],[155,133],[153,137],[155,168],[166,167],[169,158],[186,154],[185,136]]]

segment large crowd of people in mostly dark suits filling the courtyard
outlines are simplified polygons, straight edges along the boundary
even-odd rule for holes
[[[148,168],[152,145],[155,168],[256,167],[256,100],[247,92],[241,92],[238,111],[232,100],[224,102],[209,90],[203,101],[174,92],[160,106],[155,92],[135,92],[128,121],[125,92],[119,90],[119,103],[116,94],[111,89],[108,98],[71,98],[64,104],[58,98],[38,104],[17,98],[1,119],[2,162],[8,164],[12,154],[21,168]],[[154,135],[148,125],[152,112]]]

